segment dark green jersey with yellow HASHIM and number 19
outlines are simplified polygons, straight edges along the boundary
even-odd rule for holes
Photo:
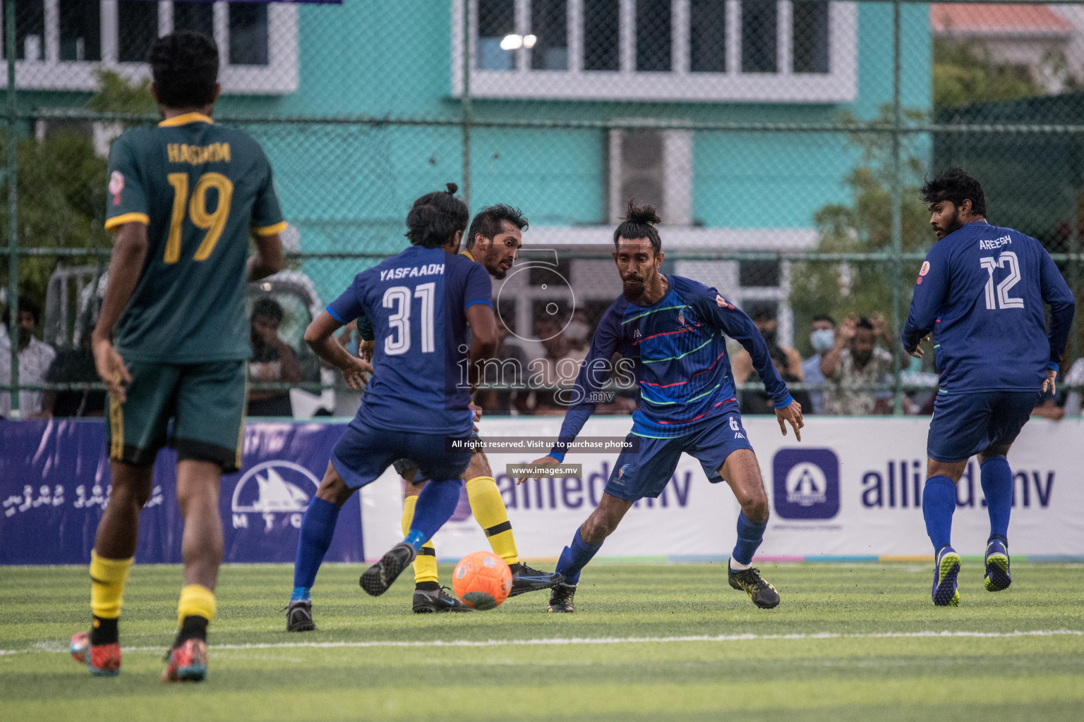
[[[126,358],[248,358],[245,263],[251,233],[286,227],[271,165],[246,133],[190,113],[118,137],[105,227],[147,226],[139,283],[117,325]]]

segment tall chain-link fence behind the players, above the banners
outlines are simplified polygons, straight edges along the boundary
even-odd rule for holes
[[[87,339],[111,242],[106,158],[118,133],[157,120],[145,57],[172,29],[216,39],[216,118],[259,140],[275,171],[289,267],[251,287],[249,309],[275,301],[300,371],[253,364],[253,381],[264,398],[289,394],[297,416],[352,412],[357,398],[301,332],[356,273],[403,248],[410,204],[448,181],[473,210],[506,202],[530,220],[494,305],[508,330],[501,357],[541,371],[483,392],[493,412],[564,411],[558,369],[575,364],[562,362],[583,357],[620,293],[609,253],[630,198],[663,219],[663,270],[753,316],[818,412],[929,410],[932,354],[919,364],[896,339],[934,240],[918,194],[932,171],[979,178],[991,222],[1038,238],[1082,290],[1084,4],[3,6],[14,90],[0,279],[18,313],[0,332],[0,415],[101,408]],[[846,373],[821,363],[843,337]],[[1076,326],[1062,375],[1081,343]],[[733,351],[743,409],[766,411],[756,371]],[[1074,369],[1080,384],[1084,362]],[[627,412],[635,393],[615,389],[602,408]],[[1079,413],[1076,391],[1038,412]]]

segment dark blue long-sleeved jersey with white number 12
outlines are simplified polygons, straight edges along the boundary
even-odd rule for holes
[[[901,339],[913,350],[933,331],[943,393],[1038,391],[1061,363],[1074,305],[1037,240],[978,221],[926,254]]]

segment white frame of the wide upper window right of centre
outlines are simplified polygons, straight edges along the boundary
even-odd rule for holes
[[[520,49],[515,70],[470,73],[472,97],[656,101],[683,103],[849,103],[857,96],[857,5],[828,5],[828,73],[793,73],[791,2],[779,1],[776,73],[741,73],[741,3],[726,0],[726,71],[691,73],[689,0],[671,0],[672,69],[635,70],[635,0],[620,0],[620,69],[583,70],[583,2],[568,0],[568,70],[534,70]],[[516,30],[529,32],[530,0],[515,0]],[[452,0],[452,95],[463,94],[463,0]],[[477,8],[472,3],[472,8]],[[477,58],[477,15],[470,17],[472,67]]]

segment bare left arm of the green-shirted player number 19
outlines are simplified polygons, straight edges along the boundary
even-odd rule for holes
[[[131,300],[139,283],[143,260],[146,258],[147,239],[146,224],[140,221],[125,223],[117,231],[117,240],[113,245],[113,255],[109,258],[109,278],[105,283],[105,298],[102,299],[102,312],[98,316],[98,325],[91,333],[91,349],[94,353],[94,367],[102,383],[121,404],[127,401],[122,382],[131,382],[131,375],[113,346],[113,329],[120,319],[125,306]]]

